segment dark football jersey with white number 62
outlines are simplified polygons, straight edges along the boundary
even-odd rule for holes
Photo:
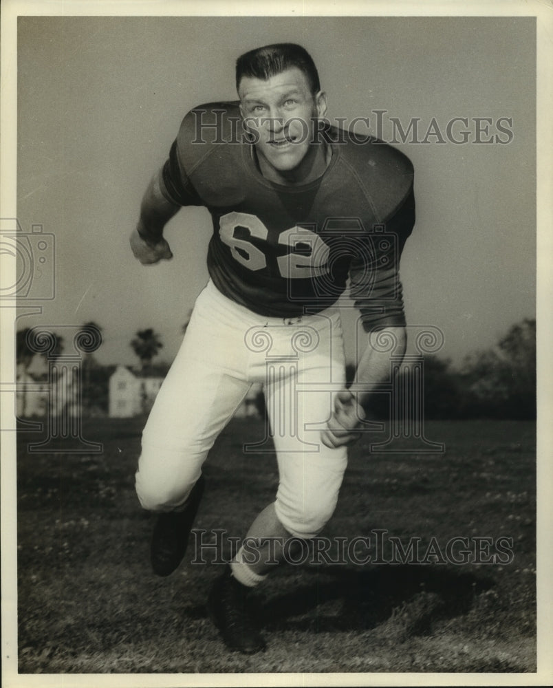
[[[398,267],[415,222],[413,166],[376,139],[329,125],[318,135],[332,148],[323,175],[276,184],[259,171],[238,103],[199,106],[171,147],[162,193],[208,208],[209,275],[246,308],[283,318],[320,312],[349,278],[365,330],[403,325]]]

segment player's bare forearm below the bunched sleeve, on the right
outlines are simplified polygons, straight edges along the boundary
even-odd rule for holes
[[[383,343],[391,338],[393,347],[387,351],[378,351],[374,345],[376,338]],[[405,327],[385,327],[379,332],[367,334],[367,347],[358,359],[356,376],[351,391],[358,394],[358,402],[370,411],[371,400],[376,393],[374,385],[391,381],[390,358],[402,359],[407,343]],[[388,348],[388,347],[386,347]]]

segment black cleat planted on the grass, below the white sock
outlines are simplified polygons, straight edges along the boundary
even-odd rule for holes
[[[227,567],[215,581],[207,607],[210,619],[219,629],[228,649],[255,654],[263,652],[266,645],[254,619],[248,591],[249,588],[239,583]]]

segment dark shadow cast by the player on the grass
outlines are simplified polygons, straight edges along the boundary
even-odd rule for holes
[[[431,566],[303,569],[314,581],[263,605],[270,630],[371,630],[391,620],[408,635],[425,635],[438,619],[466,614],[494,583]],[[315,612],[315,613],[314,613]]]

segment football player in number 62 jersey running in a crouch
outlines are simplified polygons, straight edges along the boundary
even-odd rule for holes
[[[402,356],[398,265],[415,215],[411,162],[329,125],[303,47],[243,54],[236,86],[238,102],[186,114],[131,235],[135,257],[153,264],[172,257],[163,230],[181,206],[205,206],[213,219],[210,279],[144,428],[136,489],[158,514],[153,570],[168,575],[184,557],[208,451],[250,386],[265,385],[276,497],[208,599],[226,645],[254,653],[265,641],[248,591],[285,559],[287,542],[315,537],[332,516],[347,445],[371,389],[389,379],[389,353],[367,344],[347,389],[335,303],[349,279],[367,342],[378,330]],[[280,544],[271,557],[269,539]]]

